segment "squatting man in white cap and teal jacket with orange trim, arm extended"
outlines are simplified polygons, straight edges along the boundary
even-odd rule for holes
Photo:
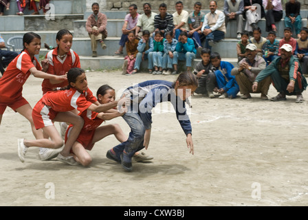
[[[296,103],[303,102],[302,93],[307,87],[307,80],[302,75],[302,68],[298,58],[292,56],[292,45],[284,44],[279,50],[281,51],[281,56],[256,76],[252,90],[256,91],[259,82],[270,76],[274,87],[279,93],[271,98],[272,101],[287,100],[285,96],[296,96]]]

